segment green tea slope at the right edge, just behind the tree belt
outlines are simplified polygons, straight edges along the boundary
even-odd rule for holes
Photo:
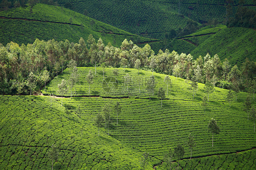
[[[247,28],[228,28],[217,32],[201,43],[191,55],[218,54],[221,60],[227,58],[232,65],[241,65],[246,58],[256,60],[256,31]]]

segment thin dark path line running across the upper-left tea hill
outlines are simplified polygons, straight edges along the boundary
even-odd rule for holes
[[[75,26],[81,26],[79,24],[71,24],[67,22],[57,22],[57,21],[49,21],[49,20],[34,20],[34,19],[26,19],[26,18],[12,18],[12,17],[5,17],[5,16],[0,16],[0,19],[8,19],[8,20],[27,20],[27,21],[36,21],[36,22],[48,22],[48,23],[54,23],[54,24],[65,24],[65,25],[75,25]],[[82,25],[83,26],[83,25]],[[83,26],[85,27],[85,26]],[[86,28],[86,27],[85,27]],[[91,29],[92,30],[92,29]],[[138,35],[127,35],[127,34],[117,34],[117,33],[110,33],[110,32],[100,32],[96,30],[92,30],[95,32],[99,33],[104,33],[104,34],[114,34],[114,35],[125,35],[125,36],[138,36]]]

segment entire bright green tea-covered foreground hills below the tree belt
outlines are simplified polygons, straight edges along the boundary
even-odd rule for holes
[[[172,86],[169,86],[161,107],[156,94],[159,87],[166,90],[165,75],[154,73],[157,85],[149,100],[145,86],[152,72],[140,70],[138,74],[135,69],[118,69],[115,84],[113,68],[106,69],[104,80],[102,68],[97,68],[88,95],[85,77],[94,69],[78,67],[77,97],[72,99],[68,98],[69,92],[62,99],[51,96],[0,97],[0,167],[49,169],[51,162],[46,153],[55,144],[60,156],[54,169],[139,169],[140,157],[146,151],[150,155],[146,169],[152,170],[154,166],[154,169],[164,170],[169,166],[161,163],[165,152],[178,143],[185,150],[184,160],[179,161],[183,169],[255,167],[256,135],[253,121],[247,120],[247,113],[243,111],[246,93],[237,94],[237,100],[234,99],[230,107],[225,100],[228,90],[215,88],[209,96],[209,104],[204,107],[201,105],[205,95],[203,84],[199,83],[193,98],[188,82],[171,76]],[[129,84],[124,83],[126,74],[132,78]],[[70,70],[64,70],[47,85],[46,92],[42,90],[43,94],[58,95],[57,84],[69,75]],[[138,82],[141,82],[139,87]],[[251,101],[256,104],[253,98]],[[113,111],[117,102],[122,108],[118,125]],[[112,110],[112,125],[109,136],[104,125],[98,137],[95,117],[107,103]],[[65,105],[70,105],[71,114],[65,111]],[[220,134],[214,135],[214,147],[207,131],[211,117],[220,126]],[[191,161],[186,160],[190,157],[186,145],[189,133],[195,136],[196,142]],[[241,152],[236,153],[238,151]],[[172,163],[173,168],[176,166],[177,163]]]

